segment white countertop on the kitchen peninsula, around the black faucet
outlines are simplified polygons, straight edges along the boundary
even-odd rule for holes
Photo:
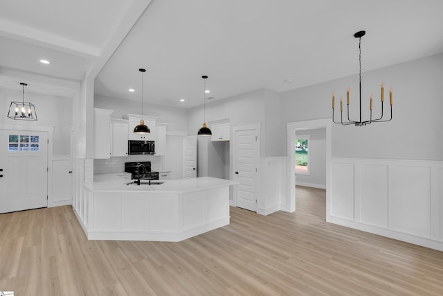
[[[132,182],[129,173],[111,173],[94,175],[93,185],[86,185],[91,191],[109,191],[109,192],[189,192],[199,191],[221,186],[238,184],[233,180],[219,179],[215,177],[197,177],[183,180],[167,180],[160,185],[147,184],[129,184]],[[144,180],[144,182],[147,182]],[[163,180],[161,181],[163,182]]]

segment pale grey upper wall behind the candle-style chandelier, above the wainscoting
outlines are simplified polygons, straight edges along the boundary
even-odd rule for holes
[[[365,127],[334,124],[332,156],[442,160],[443,54],[362,73],[363,114],[368,114],[364,110],[369,110],[371,93],[375,98],[374,112],[379,112],[381,80],[386,86],[385,98],[386,89],[392,85],[392,121]],[[358,74],[282,93],[282,121],[331,117],[332,92],[336,91],[337,106],[347,85],[351,89],[351,105],[355,105],[359,92]],[[358,110],[353,110],[352,114],[356,112]]]

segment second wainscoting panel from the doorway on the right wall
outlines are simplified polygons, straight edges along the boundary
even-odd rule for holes
[[[388,166],[361,164],[359,207],[356,220],[368,225],[388,227]],[[360,219],[357,218],[358,214]]]

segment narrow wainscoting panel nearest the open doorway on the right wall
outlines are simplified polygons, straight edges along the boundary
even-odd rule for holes
[[[354,164],[336,162],[331,171],[331,216],[354,220]]]

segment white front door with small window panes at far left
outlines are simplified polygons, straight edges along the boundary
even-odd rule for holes
[[[0,213],[48,206],[48,132],[0,130]]]

